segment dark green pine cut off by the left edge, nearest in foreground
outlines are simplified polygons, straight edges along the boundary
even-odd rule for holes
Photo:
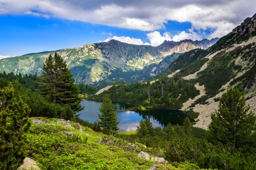
[[[0,90],[0,169],[17,169],[23,163],[27,152],[22,150],[26,141],[23,132],[31,125],[27,104],[19,97],[17,101],[11,83]]]

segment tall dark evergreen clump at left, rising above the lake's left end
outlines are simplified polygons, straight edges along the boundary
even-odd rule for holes
[[[71,72],[67,68],[67,63],[60,55],[55,53],[54,57],[49,55],[42,65],[41,94],[53,103],[61,106],[68,105],[74,112],[79,112],[84,107],[80,105],[79,87],[75,84]]]

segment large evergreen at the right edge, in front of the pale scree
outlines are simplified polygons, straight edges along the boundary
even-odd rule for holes
[[[230,88],[220,98],[218,111],[211,115],[210,132],[221,143],[230,144],[233,152],[256,142],[256,117],[249,110],[239,90]]]

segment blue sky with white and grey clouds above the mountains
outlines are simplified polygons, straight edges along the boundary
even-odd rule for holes
[[[221,38],[255,0],[0,0],[0,59],[81,45]]]

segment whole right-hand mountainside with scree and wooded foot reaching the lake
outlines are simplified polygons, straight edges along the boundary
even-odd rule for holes
[[[172,42],[162,45],[168,43]],[[92,98],[101,100],[108,93],[115,102],[183,110],[195,119],[195,127],[207,129],[220,97],[233,86],[245,94],[246,103],[256,112],[256,14],[211,47],[172,53],[159,64],[144,67],[139,74],[159,74],[155,72],[168,62],[171,64],[167,71],[150,83],[107,86],[106,92],[101,89]]]

